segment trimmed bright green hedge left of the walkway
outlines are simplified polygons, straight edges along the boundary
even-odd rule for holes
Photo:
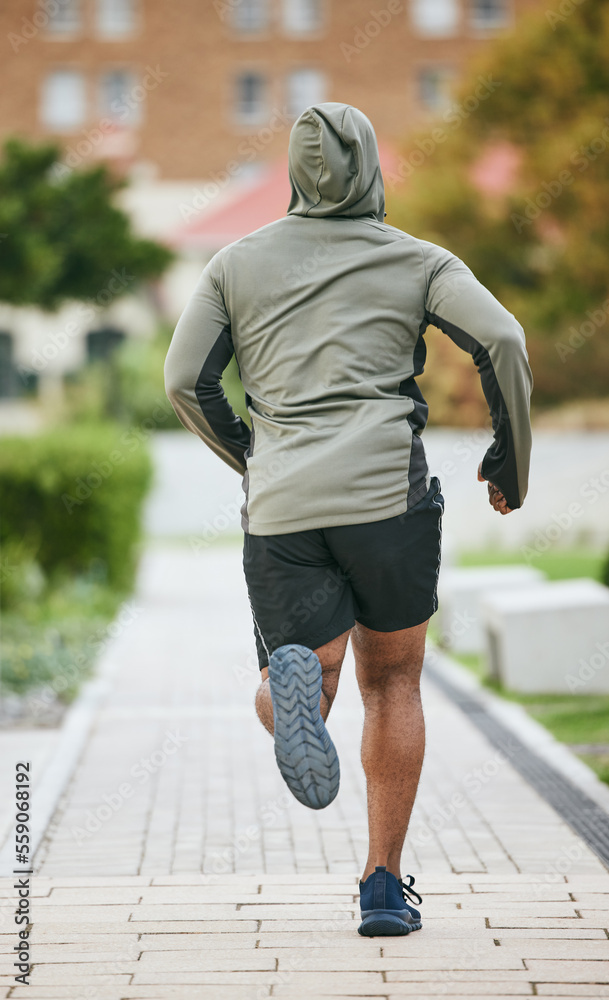
[[[5,604],[35,589],[36,566],[51,581],[84,574],[129,589],[152,475],[149,435],[147,427],[85,425],[3,439]]]

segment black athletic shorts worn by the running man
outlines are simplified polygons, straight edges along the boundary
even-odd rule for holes
[[[245,535],[243,568],[260,669],[286,643],[317,649],[361,622],[376,632],[420,625],[437,609],[444,498],[397,517],[286,535]]]

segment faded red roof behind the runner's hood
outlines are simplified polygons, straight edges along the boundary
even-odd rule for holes
[[[379,144],[381,168],[391,170],[395,153]],[[264,166],[250,180],[235,180],[234,194],[212,204],[196,219],[180,227],[171,242],[180,249],[219,250],[255,229],[286,215],[291,196],[287,157]]]

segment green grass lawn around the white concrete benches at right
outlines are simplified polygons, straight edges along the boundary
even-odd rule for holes
[[[564,549],[540,553],[532,565],[546,573],[550,580],[583,576],[599,580],[605,558],[603,553],[599,555],[586,549]],[[521,562],[519,552],[490,550],[466,552],[459,559],[461,566],[498,566]],[[433,637],[433,629],[430,633]],[[507,691],[486,678],[483,657],[475,654],[451,655],[475,673],[485,686],[503,698],[522,705],[562,743],[606,745],[606,753],[580,753],[578,756],[596,771],[602,781],[609,784],[609,695],[520,694]]]

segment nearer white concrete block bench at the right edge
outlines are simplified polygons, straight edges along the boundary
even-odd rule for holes
[[[561,580],[480,603],[492,677],[513,691],[609,694],[609,588]]]

